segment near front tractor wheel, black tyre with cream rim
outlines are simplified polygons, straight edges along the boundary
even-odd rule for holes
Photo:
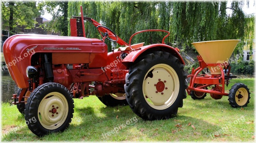
[[[25,119],[28,128],[37,136],[64,131],[71,122],[74,101],[68,89],[58,83],[37,87],[28,98]]]

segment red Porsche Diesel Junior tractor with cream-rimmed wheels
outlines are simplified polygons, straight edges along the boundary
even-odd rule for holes
[[[91,22],[102,40],[85,37],[84,20]],[[70,19],[71,37],[17,34],[3,45],[4,59],[20,88],[14,102],[37,136],[64,131],[74,113],[73,98],[96,95],[107,106],[129,104],[144,120],[168,119],[186,98],[184,61],[179,49],[168,46],[164,30],[133,34],[129,44],[97,21]],[[166,32],[162,43],[131,45],[141,32]],[[121,46],[108,53],[105,40]],[[93,89],[93,90],[91,90]],[[34,121],[34,120],[33,120]]]

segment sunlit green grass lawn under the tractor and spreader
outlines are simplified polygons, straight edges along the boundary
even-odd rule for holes
[[[250,88],[248,107],[232,108],[226,96],[220,100],[208,94],[203,100],[188,96],[176,116],[160,121],[144,121],[129,106],[106,107],[96,96],[74,99],[75,113],[68,129],[42,138],[28,129],[16,105],[2,103],[2,141],[253,141],[254,79],[232,79],[226,91],[236,82]],[[133,123],[111,133],[128,120]],[[110,136],[102,136],[108,132]]]

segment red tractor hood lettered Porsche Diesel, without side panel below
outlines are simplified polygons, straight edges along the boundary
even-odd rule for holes
[[[16,34],[3,45],[6,67],[20,88],[28,85],[26,68],[35,53],[105,53],[107,50],[107,45],[99,39],[38,34]]]

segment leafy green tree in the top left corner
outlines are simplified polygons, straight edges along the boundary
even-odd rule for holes
[[[25,29],[34,28],[36,18],[40,15],[33,1],[4,1],[1,3],[2,28],[9,30],[14,34],[19,30],[19,26],[25,26]]]

